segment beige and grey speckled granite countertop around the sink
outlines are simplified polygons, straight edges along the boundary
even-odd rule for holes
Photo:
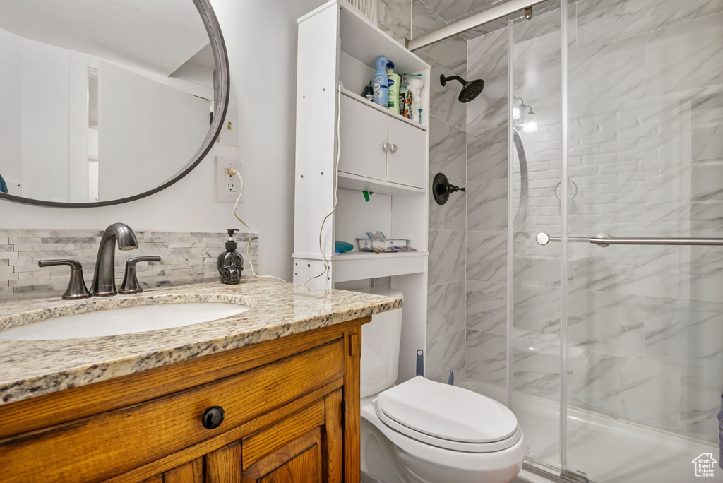
[[[137,295],[93,297],[77,302],[57,297],[0,302],[0,330],[98,309],[174,302],[231,302],[252,308],[225,319],[140,333],[48,341],[0,340],[0,404],[270,341],[402,306],[401,299],[291,283],[248,280],[239,285],[223,285],[214,282],[153,288]]]

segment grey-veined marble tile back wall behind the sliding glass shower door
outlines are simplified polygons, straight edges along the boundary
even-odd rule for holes
[[[723,4],[684,3],[570,4],[570,235],[723,235]],[[561,261],[557,247],[524,234],[560,230],[559,35],[554,10],[515,24],[515,93],[540,127],[521,134],[529,203],[511,255],[513,388],[553,400],[560,374],[548,361],[559,354]],[[508,175],[507,32],[468,46],[469,76],[487,87],[467,117],[467,375],[506,387],[506,193],[494,181]],[[723,252],[582,244],[570,251],[568,336],[570,351],[583,354],[570,364],[570,403],[715,441]]]

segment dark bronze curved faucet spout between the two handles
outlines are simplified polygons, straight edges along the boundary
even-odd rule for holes
[[[118,293],[116,290],[116,240],[119,250],[138,248],[138,240],[133,230],[125,223],[113,223],[103,232],[95,259],[93,286],[90,293],[98,297],[107,297]]]

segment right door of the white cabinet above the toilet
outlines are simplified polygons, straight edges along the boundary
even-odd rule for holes
[[[424,188],[427,133],[403,121],[389,119],[387,141],[392,147],[387,155],[387,181]]]

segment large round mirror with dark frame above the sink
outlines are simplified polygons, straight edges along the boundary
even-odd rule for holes
[[[208,0],[5,0],[0,65],[0,199],[152,195],[202,160],[226,117]]]

